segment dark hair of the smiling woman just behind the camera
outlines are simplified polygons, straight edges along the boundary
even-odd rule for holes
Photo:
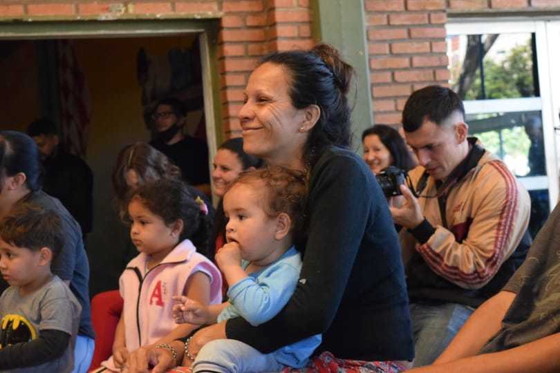
[[[362,142],[370,135],[377,135],[379,140],[389,150],[391,157],[393,157],[393,164],[391,166],[398,167],[404,171],[409,171],[416,166],[407,148],[407,144],[404,144],[404,140],[402,140],[402,137],[395,128],[385,124],[375,124],[375,126],[367,128],[362,133]]]

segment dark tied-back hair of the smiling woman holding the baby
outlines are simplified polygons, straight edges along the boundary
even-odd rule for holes
[[[354,75],[338,50],[317,44],[311,50],[273,52],[261,64],[282,66],[290,74],[290,99],[295,108],[317,105],[319,120],[312,128],[304,149],[304,161],[313,166],[326,146],[351,145],[351,107],[346,95]]]

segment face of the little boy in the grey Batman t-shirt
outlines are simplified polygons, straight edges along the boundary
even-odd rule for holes
[[[0,238],[0,272],[2,277],[10,286],[26,287],[32,286],[41,266],[41,254],[39,251],[17,247],[4,242]]]

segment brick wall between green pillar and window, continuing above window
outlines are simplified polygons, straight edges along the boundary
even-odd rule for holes
[[[375,123],[400,123],[413,90],[447,84],[447,16],[559,10],[560,0],[365,0]]]

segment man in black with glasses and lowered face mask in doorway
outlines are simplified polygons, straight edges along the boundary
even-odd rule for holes
[[[180,169],[183,179],[210,195],[208,146],[183,132],[185,107],[178,99],[162,99],[151,114],[156,137],[150,145],[164,153]]]

